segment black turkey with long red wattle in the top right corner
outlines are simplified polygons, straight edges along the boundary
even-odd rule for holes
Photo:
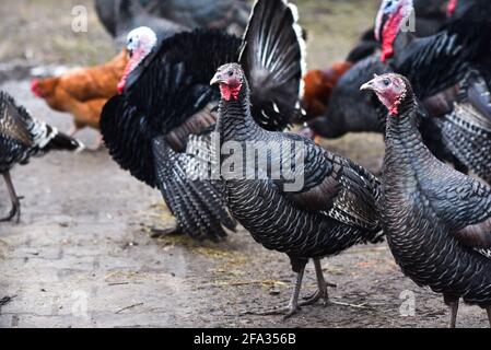
[[[459,1],[465,5],[457,4],[456,18],[426,38],[400,32],[411,1],[395,3],[381,9],[388,23],[382,30],[383,60],[391,60],[421,100],[418,114],[439,136],[432,151],[446,149],[460,170],[491,183],[491,2]]]

